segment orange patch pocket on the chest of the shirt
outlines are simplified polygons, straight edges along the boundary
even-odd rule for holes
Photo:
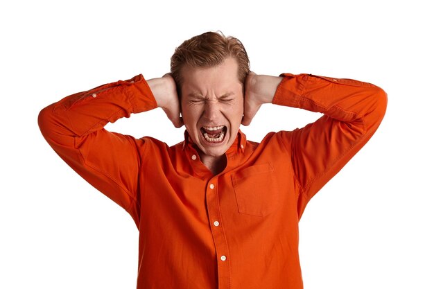
[[[275,211],[279,195],[271,164],[243,168],[231,178],[239,213],[264,217]]]

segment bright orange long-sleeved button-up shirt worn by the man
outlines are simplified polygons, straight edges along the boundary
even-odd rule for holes
[[[261,141],[238,139],[212,175],[188,134],[167,146],[103,127],[157,107],[143,76],[63,98],[39,125],[55,152],[139,229],[137,288],[300,289],[298,222],[307,202],[370,139],[385,92],[285,73],[273,103],[324,114]]]

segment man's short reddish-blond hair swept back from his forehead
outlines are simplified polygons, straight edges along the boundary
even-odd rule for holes
[[[244,85],[250,72],[250,61],[240,40],[219,32],[206,32],[191,37],[175,49],[171,57],[171,74],[180,96],[181,71],[189,67],[214,67],[232,57],[238,63],[238,80]]]

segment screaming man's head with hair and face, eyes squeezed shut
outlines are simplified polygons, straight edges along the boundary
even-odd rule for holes
[[[234,143],[243,118],[243,86],[250,71],[243,44],[208,32],[186,40],[171,58],[182,119],[202,156],[220,157]]]

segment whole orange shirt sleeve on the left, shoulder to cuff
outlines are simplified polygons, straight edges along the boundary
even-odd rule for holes
[[[137,223],[137,179],[146,139],[108,132],[104,126],[155,107],[152,91],[139,75],[67,96],[45,107],[38,124],[53,150]]]

